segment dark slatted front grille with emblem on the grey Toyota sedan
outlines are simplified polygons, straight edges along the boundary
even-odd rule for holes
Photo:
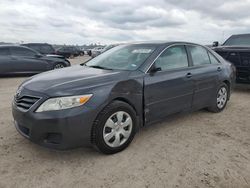
[[[33,96],[22,96],[17,97],[15,96],[15,104],[18,108],[22,110],[29,110],[40,98],[33,97]]]

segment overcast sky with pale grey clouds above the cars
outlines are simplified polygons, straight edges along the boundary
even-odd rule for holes
[[[223,42],[250,33],[250,0],[0,0],[0,41]]]

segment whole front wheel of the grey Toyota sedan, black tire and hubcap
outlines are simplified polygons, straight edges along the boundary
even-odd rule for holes
[[[94,122],[93,144],[104,154],[118,153],[132,142],[136,126],[134,109],[125,102],[114,101],[100,112]]]

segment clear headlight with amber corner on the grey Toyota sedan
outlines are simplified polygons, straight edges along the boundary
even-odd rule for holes
[[[41,106],[39,106],[39,108],[36,110],[36,112],[64,110],[81,106],[84,105],[91,97],[92,94],[51,98],[42,103]]]

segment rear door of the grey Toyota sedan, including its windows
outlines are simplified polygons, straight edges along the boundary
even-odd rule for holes
[[[214,99],[223,66],[206,48],[188,45],[192,61],[192,80],[195,83],[193,108],[208,107]]]

